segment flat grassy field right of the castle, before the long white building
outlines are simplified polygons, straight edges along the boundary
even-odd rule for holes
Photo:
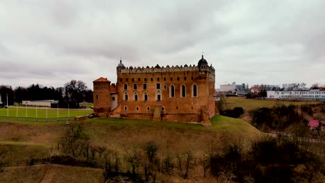
[[[244,110],[253,110],[260,107],[274,107],[276,105],[305,105],[322,103],[319,101],[280,101],[263,100],[254,98],[228,97],[226,98],[226,108],[242,107]]]

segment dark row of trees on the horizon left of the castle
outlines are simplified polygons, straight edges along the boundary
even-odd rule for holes
[[[29,87],[16,87],[12,89],[10,85],[0,85],[1,101],[8,105],[22,103],[22,101],[75,101],[76,103],[92,103],[92,90],[88,89],[81,80],[71,80],[63,87],[47,87],[40,84],[32,84]]]

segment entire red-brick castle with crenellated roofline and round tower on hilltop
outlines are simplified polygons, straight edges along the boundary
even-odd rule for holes
[[[187,121],[210,125],[215,114],[215,69],[206,59],[197,66],[125,67],[117,65],[117,82],[94,84],[94,113],[128,119]]]

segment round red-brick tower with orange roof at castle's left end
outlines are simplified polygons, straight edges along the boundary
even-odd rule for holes
[[[110,114],[110,80],[98,78],[94,84],[94,113],[98,116]]]

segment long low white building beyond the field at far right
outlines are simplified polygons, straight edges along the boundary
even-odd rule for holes
[[[325,101],[325,91],[310,89],[308,91],[267,91],[269,99]]]

